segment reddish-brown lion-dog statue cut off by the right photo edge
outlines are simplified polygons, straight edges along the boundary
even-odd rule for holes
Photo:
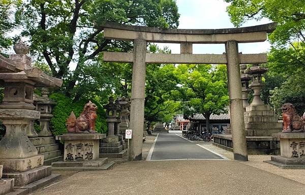
[[[291,103],[285,103],[282,106],[283,111],[283,133],[305,132],[305,113],[300,117]]]

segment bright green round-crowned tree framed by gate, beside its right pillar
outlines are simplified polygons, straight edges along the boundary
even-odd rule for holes
[[[185,102],[185,115],[203,114],[209,132],[210,115],[228,112],[229,96],[225,68],[225,65],[180,64],[175,70],[181,87],[173,91],[173,96]]]

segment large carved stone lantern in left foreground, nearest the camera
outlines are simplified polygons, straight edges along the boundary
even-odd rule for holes
[[[38,155],[26,135],[30,121],[40,118],[40,112],[34,110],[34,88],[59,87],[63,81],[31,67],[31,58],[26,56],[28,47],[22,42],[16,44],[14,50],[16,54],[10,55],[9,59],[0,55],[0,82],[5,87],[0,118],[6,126],[6,134],[0,141],[0,164],[4,177],[18,178],[15,185],[23,186],[50,173],[46,171],[48,167],[42,167],[44,156]],[[36,176],[29,179],[34,173]]]

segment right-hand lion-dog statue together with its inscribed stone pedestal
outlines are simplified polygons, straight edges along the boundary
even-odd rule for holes
[[[283,131],[272,134],[280,139],[281,156],[265,162],[283,169],[305,169],[305,116],[300,117],[291,103],[284,104],[282,111]]]

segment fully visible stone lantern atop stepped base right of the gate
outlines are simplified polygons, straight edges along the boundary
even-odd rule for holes
[[[265,105],[262,99],[260,98],[261,89],[262,89],[262,74],[267,72],[268,69],[259,66],[259,64],[253,64],[253,67],[247,70],[247,74],[251,75],[251,84],[249,87],[254,91],[253,101],[251,106],[263,106]]]

